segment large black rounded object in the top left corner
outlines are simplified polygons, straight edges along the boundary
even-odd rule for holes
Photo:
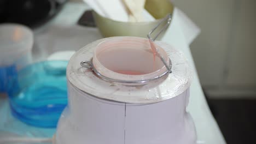
[[[67,0],[0,0],[0,23],[34,28],[57,14]]]

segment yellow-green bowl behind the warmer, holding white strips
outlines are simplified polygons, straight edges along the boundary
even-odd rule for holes
[[[103,17],[93,11],[94,19],[98,29],[103,37],[115,36],[133,36],[146,38],[149,31],[154,28],[162,18],[167,14],[173,13],[173,4],[170,0],[147,0],[145,9],[155,17],[155,21],[150,22],[121,22],[114,21],[107,17]],[[159,26],[159,29],[165,26],[165,23]],[[157,31],[158,29],[156,29]],[[165,31],[159,35],[158,39],[162,37]]]

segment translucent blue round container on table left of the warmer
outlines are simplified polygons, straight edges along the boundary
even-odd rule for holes
[[[66,61],[45,61],[20,70],[8,88],[13,115],[37,127],[56,127],[67,105],[66,67]]]

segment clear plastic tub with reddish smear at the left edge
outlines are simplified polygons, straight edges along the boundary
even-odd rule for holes
[[[18,24],[0,25],[0,93],[6,92],[8,77],[32,61],[33,32]]]

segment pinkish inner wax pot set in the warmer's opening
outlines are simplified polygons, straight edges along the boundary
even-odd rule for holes
[[[92,63],[104,76],[130,79],[130,77],[118,75],[124,74],[131,75],[131,79],[137,79],[141,75],[155,74],[162,69],[164,65],[158,57],[158,52],[165,58],[168,57],[161,47],[154,44],[153,40],[122,37],[106,40],[97,45]]]

